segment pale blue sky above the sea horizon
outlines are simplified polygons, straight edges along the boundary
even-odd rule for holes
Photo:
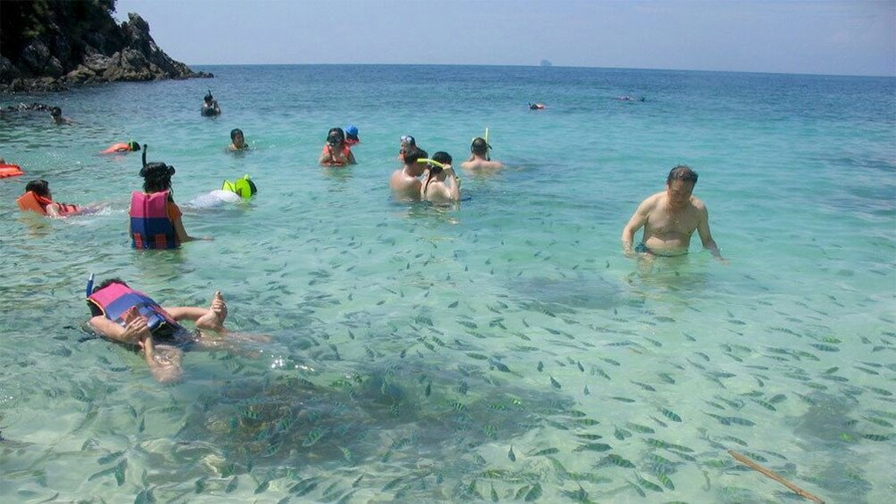
[[[896,76],[896,0],[117,0],[186,64],[510,64]]]

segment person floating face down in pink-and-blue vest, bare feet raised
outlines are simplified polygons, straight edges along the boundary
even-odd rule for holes
[[[139,348],[152,376],[159,382],[180,379],[185,349],[214,350],[230,346],[228,337],[232,333],[224,329],[228,308],[220,291],[211,296],[207,309],[163,308],[118,278],[97,287],[93,287],[90,278],[87,287],[90,328],[101,337]],[[196,329],[186,329],[180,324],[182,320],[193,321]]]

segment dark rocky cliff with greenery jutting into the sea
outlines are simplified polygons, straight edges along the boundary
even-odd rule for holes
[[[140,15],[119,25],[114,12],[115,0],[0,1],[0,91],[213,76],[168,57]]]

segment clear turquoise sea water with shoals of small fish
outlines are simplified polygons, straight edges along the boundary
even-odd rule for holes
[[[896,495],[896,81],[203,70],[218,77],[14,100],[58,104],[68,126],[0,120],[0,156],[27,172],[0,181],[0,498],[787,500],[727,449],[829,501]],[[217,119],[198,113],[208,88]],[[358,166],[317,167],[348,123]],[[245,155],[223,151],[234,127]],[[401,134],[461,159],[485,127],[509,167],[465,176],[469,201],[392,201]],[[185,226],[213,242],[129,248],[140,159],[97,152],[132,138],[177,167]],[[680,162],[728,266],[696,237],[651,270],[621,253]],[[186,205],[244,174],[251,204]],[[22,215],[38,177],[108,209]],[[162,303],[220,288],[231,328],[274,340],[190,353],[185,381],[159,386],[84,331],[91,271]]]

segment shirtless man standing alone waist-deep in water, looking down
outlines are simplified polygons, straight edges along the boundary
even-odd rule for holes
[[[625,255],[633,256],[635,252],[665,257],[684,255],[696,229],[703,248],[719,261],[726,262],[710,234],[710,214],[706,206],[691,195],[694,184],[697,184],[697,174],[690,167],[672,168],[666,179],[666,191],[642,201],[625,225],[622,231]],[[642,227],[642,241],[633,247],[634,234]]]

